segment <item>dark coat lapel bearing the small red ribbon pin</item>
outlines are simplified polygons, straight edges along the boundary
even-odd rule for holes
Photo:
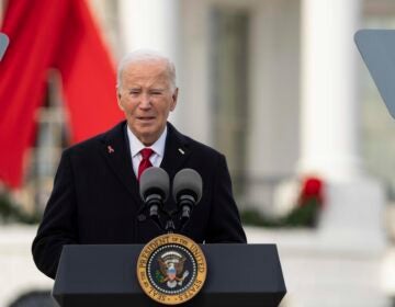
[[[103,136],[101,152],[115,175],[138,203],[138,182],[133,171],[131,151],[124,128],[125,122],[122,122]]]

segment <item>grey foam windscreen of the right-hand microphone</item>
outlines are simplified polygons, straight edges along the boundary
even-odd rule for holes
[[[173,180],[173,197],[178,203],[178,197],[181,195],[193,195],[196,197],[196,203],[202,198],[203,181],[202,177],[192,169],[180,170]]]

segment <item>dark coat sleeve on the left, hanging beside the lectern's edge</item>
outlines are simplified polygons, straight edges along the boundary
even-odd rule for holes
[[[69,151],[65,151],[32,246],[35,264],[52,278],[55,278],[63,246],[77,243],[76,201]]]

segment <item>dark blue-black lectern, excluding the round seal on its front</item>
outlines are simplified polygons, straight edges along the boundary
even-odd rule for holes
[[[163,306],[136,276],[143,245],[65,246],[53,296],[61,307]],[[278,306],[286,293],[275,245],[202,245],[207,276],[181,306]]]

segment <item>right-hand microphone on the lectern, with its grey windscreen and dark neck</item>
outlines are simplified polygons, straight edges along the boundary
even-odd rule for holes
[[[181,220],[190,219],[193,207],[202,198],[203,181],[201,175],[192,169],[179,171],[173,180],[173,198],[181,208]]]

